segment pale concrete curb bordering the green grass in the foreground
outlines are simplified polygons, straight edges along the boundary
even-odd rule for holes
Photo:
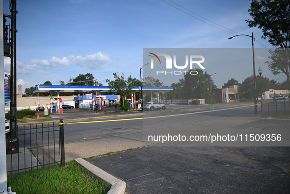
[[[111,185],[111,189],[107,194],[124,194],[126,189],[126,183],[117,179],[116,177],[110,175],[109,173],[105,172],[101,168],[92,165],[91,163],[83,160],[82,158],[77,158],[75,161],[82,166],[83,168],[87,169],[89,173],[96,177],[100,181],[105,181]]]

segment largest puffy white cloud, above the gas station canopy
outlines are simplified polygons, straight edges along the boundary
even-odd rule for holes
[[[69,56],[73,58],[73,61],[77,63],[77,65],[82,67],[88,67],[91,69],[96,69],[100,66],[103,66],[105,63],[110,62],[111,59],[108,55],[104,55],[102,52],[93,55],[82,56]]]

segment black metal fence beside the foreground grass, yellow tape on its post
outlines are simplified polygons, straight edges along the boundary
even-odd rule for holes
[[[6,137],[7,173],[65,165],[64,130],[60,123],[18,125],[17,135]]]

